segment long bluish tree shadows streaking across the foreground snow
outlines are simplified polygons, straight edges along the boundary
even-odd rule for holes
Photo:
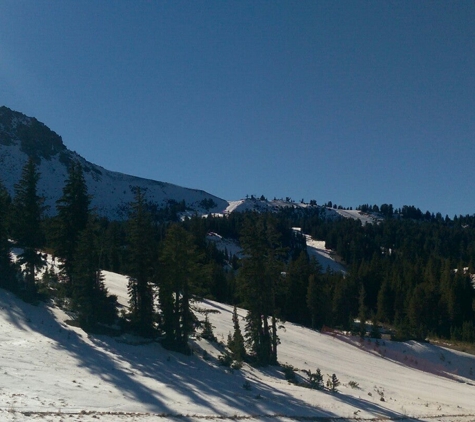
[[[307,420],[344,419],[260,381],[260,375],[266,373],[285,383],[278,367],[253,368],[246,379],[241,371],[231,372],[218,366],[216,359],[206,361],[199,357],[199,342],[195,342],[197,353],[192,356],[166,351],[158,343],[134,346],[99,335],[89,336],[94,347],[70,327],[58,322],[51,309],[44,304],[32,306],[0,291],[0,307],[6,310],[4,313],[15,327],[25,329],[27,326],[50,338],[55,347],[73,356],[80,367],[141,403],[141,407],[150,413],[167,414],[170,419],[179,417],[183,421],[193,420],[193,415],[178,415],[168,406],[166,396],[160,391],[159,383],[162,383],[179,393],[183,401],[203,409],[199,413],[205,416],[269,418],[281,415]],[[156,381],[157,387],[150,388],[139,377]],[[248,388],[244,388],[245,384]],[[321,394],[315,391],[315,402],[321,402]],[[333,396],[343,403],[372,413],[374,417],[405,418],[400,413],[366,400],[341,393]]]

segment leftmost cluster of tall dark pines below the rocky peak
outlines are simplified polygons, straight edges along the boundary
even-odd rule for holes
[[[99,266],[100,245],[97,242],[97,220],[90,211],[90,198],[81,166],[72,163],[57,201],[57,216],[50,221],[49,242],[45,230],[44,199],[38,195],[40,174],[32,159],[15,185],[13,201],[2,186],[0,200],[0,243],[2,271],[0,285],[19,293],[28,301],[37,301],[48,290],[66,298],[77,312],[84,327],[100,322],[112,322],[114,302],[107,295]],[[18,248],[14,264],[10,255],[11,240]],[[49,243],[49,244],[48,244]],[[58,272],[46,270],[45,248],[59,257]]]

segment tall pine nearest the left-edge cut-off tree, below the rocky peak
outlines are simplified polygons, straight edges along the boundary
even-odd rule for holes
[[[41,229],[43,198],[37,193],[40,175],[33,159],[23,168],[20,181],[15,185],[13,207],[13,233],[17,245],[23,249],[18,261],[24,266],[24,289],[27,300],[34,300],[37,293],[36,273],[45,265],[45,258],[39,251],[44,246]]]

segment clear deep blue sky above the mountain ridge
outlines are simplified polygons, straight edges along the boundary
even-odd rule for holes
[[[474,1],[0,0],[0,105],[224,199],[475,213]]]

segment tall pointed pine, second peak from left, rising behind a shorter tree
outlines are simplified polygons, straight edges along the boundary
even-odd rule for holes
[[[61,259],[60,271],[67,284],[72,284],[72,274],[80,233],[89,218],[90,198],[81,164],[73,161],[69,166],[68,179],[63,196],[56,202],[57,227],[55,253]]]

